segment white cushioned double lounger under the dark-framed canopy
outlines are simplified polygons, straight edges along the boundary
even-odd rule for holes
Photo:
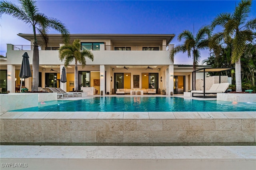
[[[192,90],[192,97],[216,97],[216,96],[205,96],[208,94],[217,94],[217,93],[225,93],[228,89],[229,83],[217,83],[213,84],[212,87],[209,90],[203,91],[203,90]],[[194,94],[203,94],[200,96],[194,96]]]

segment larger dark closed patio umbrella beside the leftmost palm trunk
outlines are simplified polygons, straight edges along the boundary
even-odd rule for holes
[[[29,60],[28,60],[28,53],[25,52],[22,55],[23,59],[22,59],[22,64],[20,67],[20,74],[19,77],[22,78],[21,79],[21,83],[20,83],[20,92],[21,92],[21,87],[22,87],[22,80],[26,79],[28,77],[32,77],[32,73],[31,73],[31,69],[30,69],[30,64],[29,64]]]

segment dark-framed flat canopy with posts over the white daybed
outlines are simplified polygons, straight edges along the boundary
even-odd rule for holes
[[[204,73],[204,93],[203,96],[196,96],[196,97],[202,97],[202,98],[207,98],[208,96],[205,96],[205,73],[207,72],[218,72],[219,73],[219,83],[220,83],[220,73],[222,71],[228,71],[228,70],[232,70],[235,69],[234,67],[223,67],[223,68],[202,68],[202,69],[198,69],[196,71],[192,71],[192,89],[194,88],[194,73]],[[212,96],[210,96],[212,97]]]

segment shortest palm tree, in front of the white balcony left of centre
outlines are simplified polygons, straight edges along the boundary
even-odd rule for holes
[[[82,50],[80,40],[76,39],[72,44],[65,44],[60,47],[59,58],[64,60],[64,65],[67,67],[72,61],[75,60],[75,91],[78,90],[78,68],[77,63],[82,64],[82,68],[86,65],[86,59],[88,57],[93,61],[94,56],[91,51]]]

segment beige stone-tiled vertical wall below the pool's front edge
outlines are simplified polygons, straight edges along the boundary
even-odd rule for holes
[[[256,119],[0,119],[0,142],[256,142]]]

